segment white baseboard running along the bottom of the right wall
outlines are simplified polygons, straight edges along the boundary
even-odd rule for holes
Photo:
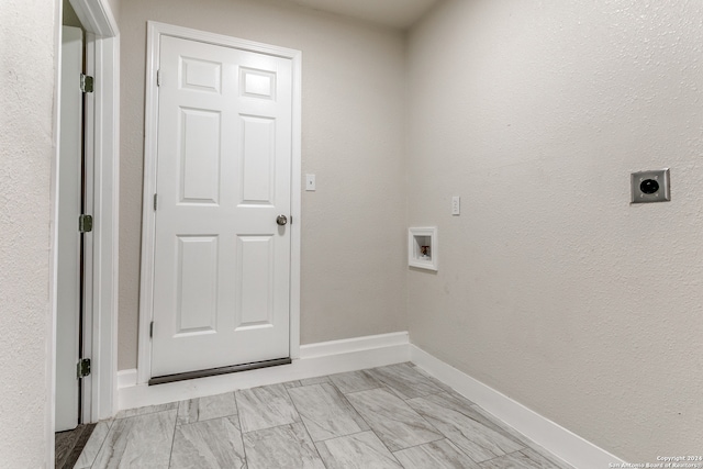
[[[577,469],[607,468],[614,467],[610,464],[624,462],[412,344],[410,360]]]

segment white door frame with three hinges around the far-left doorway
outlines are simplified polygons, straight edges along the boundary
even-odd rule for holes
[[[93,216],[94,222],[92,233],[85,236],[83,247],[83,356],[91,359],[92,372],[83,378],[81,409],[82,421],[94,423],[113,416],[116,409],[120,35],[108,0],[69,1],[86,30],[87,75],[96,78],[94,92],[87,94],[83,118],[86,212]],[[58,187],[56,170],[53,178],[52,206],[55,206]],[[55,236],[52,250],[55,270]],[[55,276],[51,281],[54,314],[52,344],[55,344]],[[54,346],[49,350],[54,362]],[[51,397],[51,402],[53,415],[55,395]]]

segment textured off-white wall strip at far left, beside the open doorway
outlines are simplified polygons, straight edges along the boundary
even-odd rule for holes
[[[0,466],[49,467],[56,1],[0,2]]]

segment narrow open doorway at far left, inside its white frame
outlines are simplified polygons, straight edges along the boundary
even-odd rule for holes
[[[85,93],[91,92],[86,71],[86,32],[68,1],[63,4],[60,51],[59,154],[57,164],[56,244],[56,375],[55,458],[57,468],[72,467],[93,425],[83,425],[86,233]]]

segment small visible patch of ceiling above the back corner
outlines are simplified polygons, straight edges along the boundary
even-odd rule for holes
[[[410,27],[438,0],[287,0],[384,26]]]

